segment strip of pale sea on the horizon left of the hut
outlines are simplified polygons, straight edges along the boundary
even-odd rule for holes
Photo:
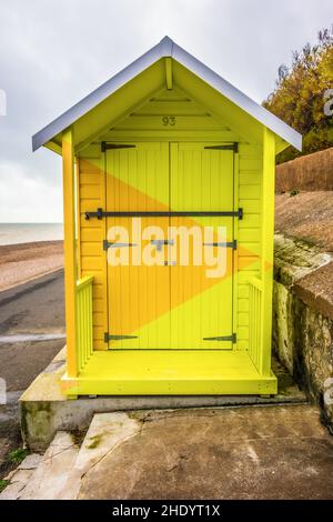
[[[62,239],[62,223],[0,223],[0,245]]]

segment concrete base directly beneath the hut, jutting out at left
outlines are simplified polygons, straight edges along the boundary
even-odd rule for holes
[[[274,364],[273,369],[279,380],[279,393],[274,396],[117,395],[81,396],[72,401],[61,393],[60,379],[64,373],[64,365],[65,348],[38,375],[20,399],[22,436],[30,450],[44,451],[57,431],[87,431],[94,413],[306,402],[305,395],[279,364]]]

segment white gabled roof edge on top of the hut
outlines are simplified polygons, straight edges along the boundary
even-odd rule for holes
[[[299,132],[293,130],[262,106],[251,100],[251,98],[221,78],[216,72],[212,71],[200,60],[174,43],[169,37],[164,37],[160,43],[154,46],[148,52],[130,63],[125,69],[118,72],[105,83],[75,103],[71,109],[37,132],[37,134],[32,137],[32,150],[36,151],[41,145],[52,140],[54,135],[71,126],[74,121],[97,107],[118,89],[123,87],[161,58],[167,57],[173,58],[192,73],[196,74],[201,80],[209,83],[218,92],[243,109],[255,120],[271,129],[284,141],[295,147],[295,149],[302,150],[302,135]]]

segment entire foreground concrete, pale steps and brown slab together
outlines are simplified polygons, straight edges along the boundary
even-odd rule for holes
[[[333,499],[333,438],[309,404],[98,413],[34,456],[0,500]]]

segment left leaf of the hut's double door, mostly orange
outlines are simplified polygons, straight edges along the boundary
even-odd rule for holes
[[[169,218],[140,215],[168,210],[168,143],[107,151],[107,211],[118,213],[107,221],[111,349],[170,348]]]

